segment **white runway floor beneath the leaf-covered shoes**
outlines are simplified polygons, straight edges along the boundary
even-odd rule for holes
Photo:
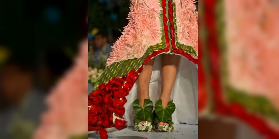
[[[109,131],[109,139],[198,139],[198,125],[178,124],[173,132],[137,132],[133,127]],[[88,134],[88,139],[99,139],[99,134]]]

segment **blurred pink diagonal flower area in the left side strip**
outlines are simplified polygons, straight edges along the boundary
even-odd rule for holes
[[[81,43],[75,64],[61,78],[47,97],[48,111],[42,115],[42,123],[35,139],[64,139],[87,133],[87,78],[88,41]]]

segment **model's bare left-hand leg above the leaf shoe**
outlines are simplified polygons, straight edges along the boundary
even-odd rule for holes
[[[140,85],[140,95],[138,99],[140,100],[140,105],[144,105],[144,99],[149,99],[149,83],[151,79],[154,59],[151,59],[143,68],[139,75],[139,85]]]

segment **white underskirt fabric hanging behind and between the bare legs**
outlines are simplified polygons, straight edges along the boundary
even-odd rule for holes
[[[149,85],[149,96],[155,105],[161,94],[161,55],[155,57],[152,76]],[[139,83],[136,81],[129,95],[126,96],[127,103],[124,105],[124,119],[128,126],[134,126],[133,102],[139,94]],[[198,124],[198,65],[190,62],[187,58],[180,56],[177,75],[171,92],[176,109],[172,114],[174,124]]]

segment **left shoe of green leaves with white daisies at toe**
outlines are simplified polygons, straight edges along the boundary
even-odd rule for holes
[[[134,129],[136,131],[153,131],[153,102],[144,99],[144,106],[141,107],[140,101],[137,99],[133,102],[133,109],[135,111]]]

